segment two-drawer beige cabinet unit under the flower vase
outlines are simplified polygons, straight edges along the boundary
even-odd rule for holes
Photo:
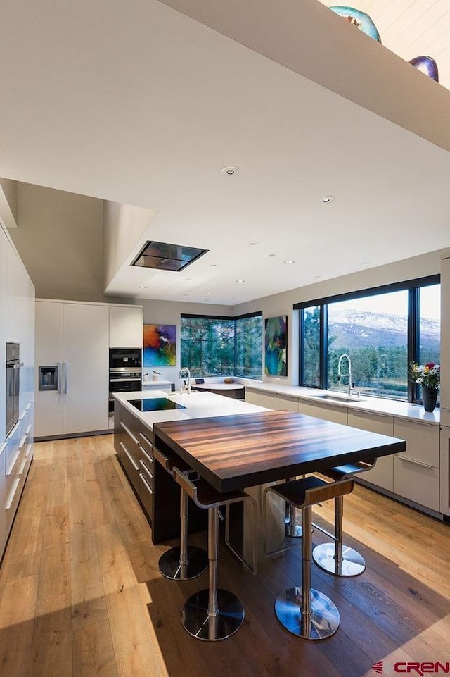
[[[439,511],[439,428],[394,418],[394,437],[406,451],[394,455],[394,493]]]

